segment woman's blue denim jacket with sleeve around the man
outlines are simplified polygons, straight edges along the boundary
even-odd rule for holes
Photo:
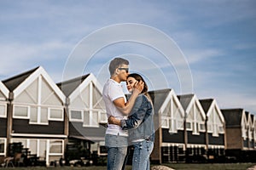
[[[148,97],[138,95],[127,120],[121,120],[123,130],[128,130],[129,141],[146,139],[154,142],[154,109]]]

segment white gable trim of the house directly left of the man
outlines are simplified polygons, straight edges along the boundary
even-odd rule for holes
[[[89,86],[90,82],[93,82],[96,88],[102,93],[102,85],[100,84],[100,82],[96,80],[96,77],[92,73],[90,73],[90,75],[85,78],[85,80],[79,85],[79,87],[76,88],[73,91],[73,93],[69,95],[68,98],[70,99],[70,103],[72,103],[73,100],[76,99],[79,96],[79,94],[82,93],[84,88]]]

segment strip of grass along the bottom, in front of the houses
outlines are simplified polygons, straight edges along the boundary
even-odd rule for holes
[[[207,163],[207,164],[186,164],[173,163],[162,164],[166,167],[172,167],[175,170],[247,170],[248,167],[253,167],[256,163]],[[153,167],[154,165],[152,165]],[[1,168],[0,168],[1,169]],[[14,170],[14,167],[3,168],[6,170]],[[15,167],[19,170],[106,170],[106,166],[91,166],[91,167]],[[125,170],[131,170],[131,165],[126,166]]]

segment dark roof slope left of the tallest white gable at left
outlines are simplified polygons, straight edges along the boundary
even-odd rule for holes
[[[24,82],[27,77],[29,77],[34,71],[38,70],[39,66],[33,68],[32,70],[20,73],[15,77],[10,77],[6,80],[3,80],[3,84],[9,89],[10,92],[13,92],[15,88],[17,88],[21,82]]]

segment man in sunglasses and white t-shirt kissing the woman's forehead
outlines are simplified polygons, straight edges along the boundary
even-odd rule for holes
[[[119,120],[126,119],[135,100],[143,90],[143,82],[137,82],[131,98],[126,101],[120,82],[125,82],[129,75],[129,61],[115,58],[109,64],[110,79],[103,88],[103,100],[106,105],[107,116],[114,116]],[[128,132],[118,125],[108,124],[105,145],[108,148],[108,170],[120,170],[125,161],[128,146]]]

